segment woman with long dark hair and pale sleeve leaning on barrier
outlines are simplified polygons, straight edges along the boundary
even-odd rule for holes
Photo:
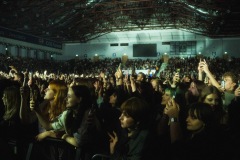
[[[96,143],[102,140],[102,132],[100,122],[95,116],[92,95],[87,86],[69,87],[66,110],[51,122],[44,117],[39,108],[34,107],[34,103],[31,105],[40,124],[48,132],[64,132],[60,137],[61,139],[75,147],[84,149],[81,154],[83,159],[90,159],[94,153],[103,149],[96,147],[102,144]]]

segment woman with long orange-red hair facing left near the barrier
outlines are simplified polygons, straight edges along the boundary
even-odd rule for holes
[[[66,109],[66,97],[67,97],[67,85],[61,80],[52,80],[49,82],[48,88],[45,89],[45,96],[43,102],[39,101],[39,89],[35,84],[30,84],[30,93],[26,89],[22,88],[22,106],[20,109],[20,117],[25,123],[34,123],[37,120],[36,114],[31,112],[34,108],[29,108],[28,99],[33,101],[41,114],[51,122],[56,119]],[[36,139],[41,141],[46,137],[55,137],[52,132],[46,131],[41,125],[39,125],[39,134]]]

